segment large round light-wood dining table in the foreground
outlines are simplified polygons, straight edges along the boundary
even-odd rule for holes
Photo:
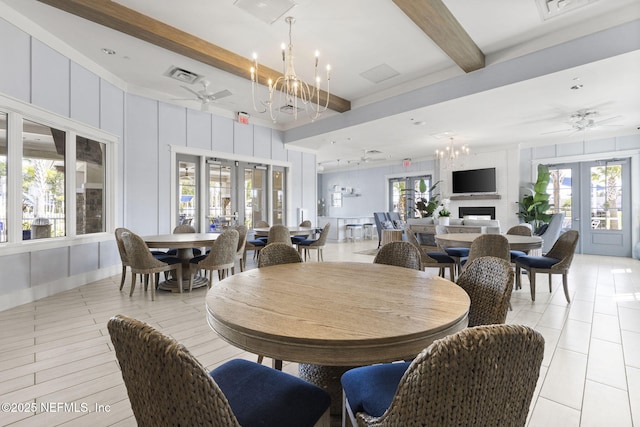
[[[469,304],[458,285],[424,271],[294,263],[222,280],[207,292],[206,315],[228,343],[300,363],[301,377],[332,394],[335,415],[341,372],[415,357],[434,340],[464,329]],[[336,373],[332,367],[341,368]]]

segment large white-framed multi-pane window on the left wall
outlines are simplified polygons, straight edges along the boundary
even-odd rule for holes
[[[109,231],[116,140],[2,96],[0,103],[0,245]]]

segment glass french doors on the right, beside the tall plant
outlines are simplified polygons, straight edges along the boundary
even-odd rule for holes
[[[629,159],[598,160],[549,167],[550,202],[565,212],[563,229],[580,232],[578,251],[631,256]]]

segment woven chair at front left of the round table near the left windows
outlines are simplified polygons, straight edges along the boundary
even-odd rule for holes
[[[179,258],[171,256],[165,256],[161,259],[155,258],[149,251],[144,240],[142,240],[142,237],[132,231],[122,232],[121,237],[132,274],[129,296],[133,296],[133,291],[136,287],[136,274],[148,275],[148,278],[151,278],[151,301],[153,301],[155,299],[160,272],[172,270],[175,270],[178,287],[180,293],[182,293],[182,261]],[[145,291],[149,285],[148,278],[145,279]]]

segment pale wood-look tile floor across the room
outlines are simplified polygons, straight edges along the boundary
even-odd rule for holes
[[[370,240],[333,243],[324,258],[371,262],[372,256],[354,252],[376,246]],[[206,288],[158,292],[152,302],[140,287],[129,298],[128,281],[119,292],[119,281],[113,276],[0,312],[0,425],[134,426],[106,329],[117,313],[173,336],[207,369],[232,358],[255,360],[209,328]],[[640,262],[577,255],[569,275],[571,304],[560,276],[552,293],[546,277],[537,282],[532,303],[523,278],[507,320],[534,327],[546,339],[528,426],[640,426]],[[297,373],[294,363],[284,369]],[[49,410],[41,411],[41,404]]]

